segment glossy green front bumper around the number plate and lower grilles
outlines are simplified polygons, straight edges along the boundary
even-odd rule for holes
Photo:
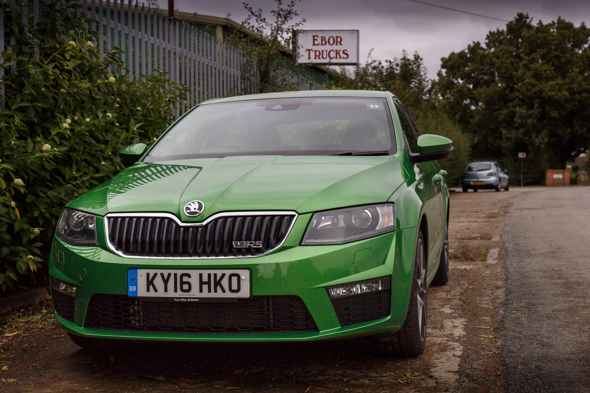
[[[101,220],[97,217],[97,220]],[[388,334],[401,328],[408,308],[416,228],[346,245],[299,246],[309,214],[298,217],[286,242],[275,252],[247,259],[140,259],[122,257],[106,247],[70,246],[54,239],[50,257],[52,279],[76,285],[72,321],[56,313],[58,322],[80,336],[168,341],[306,341]],[[100,223],[98,227],[100,228]],[[99,244],[104,245],[99,233]],[[359,262],[359,251],[371,249]],[[363,252],[367,255],[367,252]],[[357,263],[353,263],[357,262]],[[186,333],[85,327],[93,294],[126,295],[127,269],[225,269],[251,271],[252,296],[298,296],[317,331],[264,333]],[[326,286],[391,276],[391,313],[375,321],[341,326]]]

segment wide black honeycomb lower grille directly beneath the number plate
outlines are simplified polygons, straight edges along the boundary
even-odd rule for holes
[[[86,328],[147,332],[270,333],[317,331],[297,296],[253,296],[234,302],[176,303],[126,295],[92,295]]]

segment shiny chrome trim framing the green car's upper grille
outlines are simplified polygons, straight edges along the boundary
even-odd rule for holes
[[[238,216],[238,217],[239,216],[290,216],[290,217],[292,217],[292,219],[291,219],[291,223],[290,223],[289,227],[287,228],[287,230],[284,233],[283,239],[281,239],[281,241],[276,246],[274,246],[271,249],[266,250],[265,252],[260,253],[258,255],[232,255],[232,256],[152,256],[152,255],[144,256],[144,255],[134,255],[134,254],[124,253],[121,250],[117,249],[117,247],[113,245],[113,243],[111,242],[111,239],[110,239],[109,221],[110,221],[110,219],[114,219],[114,218],[118,218],[118,217],[168,218],[168,219],[172,219],[180,227],[189,227],[189,228],[191,228],[191,227],[204,227],[208,223],[210,223],[210,222],[212,222],[214,220],[222,219],[224,217],[236,217],[236,216]],[[285,242],[285,240],[287,240],[287,237],[289,236],[289,233],[291,232],[291,229],[293,229],[293,226],[294,226],[294,224],[295,224],[295,222],[297,220],[297,216],[299,216],[299,214],[297,214],[296,212],[284,211],[284,210],[278,210],[278,211],[253,211],[253,212],[221,212],[221,213],[216,213],[216,214],[212,215],[211,217],[208,217],[206,220],[204,220],[202,222],[187,223],[187,222],[182,222],[181,220],[178,219],[178,217],[175,214],[171,214],[171,213],[109,213],[106,216],[104,216],[104,232],[105,232],[107,247],[109,248],[109,250],[111,250],[112,252],[116,253],[119,256],[126,257],[126,258],[138,258],[138,259],[235,259],[235,258],[255,258],[255,257],[267,255],[267,254],[273,252],[274,250],[277,250],[279,247],[281,247],[283,245],[283,243]],[[248,239],[248,240],[250,240],[250,239]]]

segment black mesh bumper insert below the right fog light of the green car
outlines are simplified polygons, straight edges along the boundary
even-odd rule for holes
[[[366,292],[332,300],[340,326],[375,321],[391,312],[391,290]]]

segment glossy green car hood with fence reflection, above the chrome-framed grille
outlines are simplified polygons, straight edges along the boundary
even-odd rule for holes
[[[240,156],[137,163],[68,207],[96,214],[169,212],[201,221],[231,210],[297,213],[379,203],[407,180],[391,156]],[[205,204],[187,217],[192,200]]]

